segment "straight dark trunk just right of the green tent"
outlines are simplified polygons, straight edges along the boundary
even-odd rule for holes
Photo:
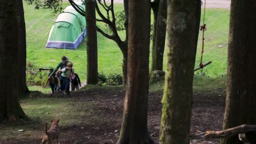
[[[95,0],[87,0],[85,4],[85,18],[87,30],[87,84],[98,83],[98,52]]]

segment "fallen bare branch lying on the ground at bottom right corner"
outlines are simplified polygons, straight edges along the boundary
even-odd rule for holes
[[[206,131],[204,138],[227,138],[248,131],[256,131],[256,125],[240,125],[223,131]]]

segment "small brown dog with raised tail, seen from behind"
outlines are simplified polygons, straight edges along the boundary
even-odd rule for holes
[[[52,144],[53,139],[56,139],[56,144],[58,144],[58,137],[59,137],[59,128],[58,128],[59,120],[52,120],[51,121],[51,128],[47,131],[47,123],[43,128],[43,140],[41,144]]]

